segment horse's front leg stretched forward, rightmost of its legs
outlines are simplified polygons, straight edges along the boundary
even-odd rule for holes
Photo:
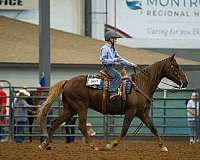
[[[155,128],[155,126],[153,124],[153,121],[149,117],[149,113],[146,112],[145,114],[143,114],[142,116],[139,116],[139,117],[142,120],[142,122],[150,129],[150,131],[157,137],[157,139],[158,139],[158,145],[161,148],[161,151],[167,152],[168,149],[164,145],[161,137],[159,136],[158,131],[157,131],[157,129]]]

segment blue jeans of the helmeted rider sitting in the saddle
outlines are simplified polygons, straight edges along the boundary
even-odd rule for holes
[[[113,80],[111,80],[110,83],[110,91],[117,92],[117,88],[119,87],[121,82],[120,69],[117,66],[109,65],[106,66],[106,70],[108,74],[114,78]]]

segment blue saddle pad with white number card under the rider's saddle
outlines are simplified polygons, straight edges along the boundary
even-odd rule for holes
[[[91,88],[96,88],[99,90],[103,89],[104,81],[102,79],[96,78],[93,75],[87,75],[86,77],[86,86]],[[110,88],[110,86],[109,86]],[[131,92],[132,89],[132,82],[130,79],[126,80],[125,82],[125,91],[127,94]]]

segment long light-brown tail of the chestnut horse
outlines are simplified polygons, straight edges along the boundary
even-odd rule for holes
[[[44,133],[47,133],[47,114],[48,111],[51,108],[51,105],[55,101],[55,99],[60,95],[62,92],[64,85],[67,83],[67,80],[59,81],[56,84],[54,84],[48,93],[46,101],[43,103],[43,105],[40,108],[40,111],[38,113],[38,120],[40,124],[40,128]]]

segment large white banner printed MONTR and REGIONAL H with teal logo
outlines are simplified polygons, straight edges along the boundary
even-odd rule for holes
[[[116,28],[133,38],[120,43],[200,48],[200,0],[118,0],[116,9]]]

